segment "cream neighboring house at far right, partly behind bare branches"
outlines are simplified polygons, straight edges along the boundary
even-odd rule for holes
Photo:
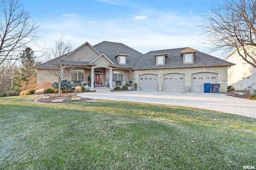
[[[255,47],[248,45],[246,48],[248,53],[252,54],[252,50],[255,53]],[[254,59],[256,59],[256,56],[254,56]],[[228,68],[228,85],[234,86],[236,90],[243,90],[254,83],[254,88],[256,88],[256,68],[246,63],[237,50],[233,51],[224,60],[236,64]]]

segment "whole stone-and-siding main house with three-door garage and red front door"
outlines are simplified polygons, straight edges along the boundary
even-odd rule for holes
[[[203,92],[204,83],[219,83],[220,92],[226,92],[227,69],[234,65],[190,47],[142,54],[122,43],[108,41],[94,46],[86,42],[66,56],[81,60],[65,78],[80,80],[84,85],[93,75],[91,81],[96,82],[96,89],[107,84],[110,88],[119,86],[116,81],[122,85],[132,81],[130,86],[137,83],[141,90]],[[56,81],[49,73],[50,62],[54,60],[35,68],[38,84]]]

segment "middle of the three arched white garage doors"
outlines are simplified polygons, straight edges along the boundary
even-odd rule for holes
[[[165,74],[164,75],[164,91],[185,91],[185,75],[184,74]]]

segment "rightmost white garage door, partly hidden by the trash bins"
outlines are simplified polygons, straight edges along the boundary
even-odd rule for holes
[[[200,72],[192,74],[192,92],[204,92],[204,83],[218,83],[218,74]]]

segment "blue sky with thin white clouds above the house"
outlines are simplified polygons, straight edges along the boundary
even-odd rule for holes
[[[40,38],[32,49],[50,48],[61,37],[74,44],[86,41],[124,43],[147,53],[160,49],[192,47],[209,53],[202,43],[205,12],[222,0],[20,0],[40,24]]]

